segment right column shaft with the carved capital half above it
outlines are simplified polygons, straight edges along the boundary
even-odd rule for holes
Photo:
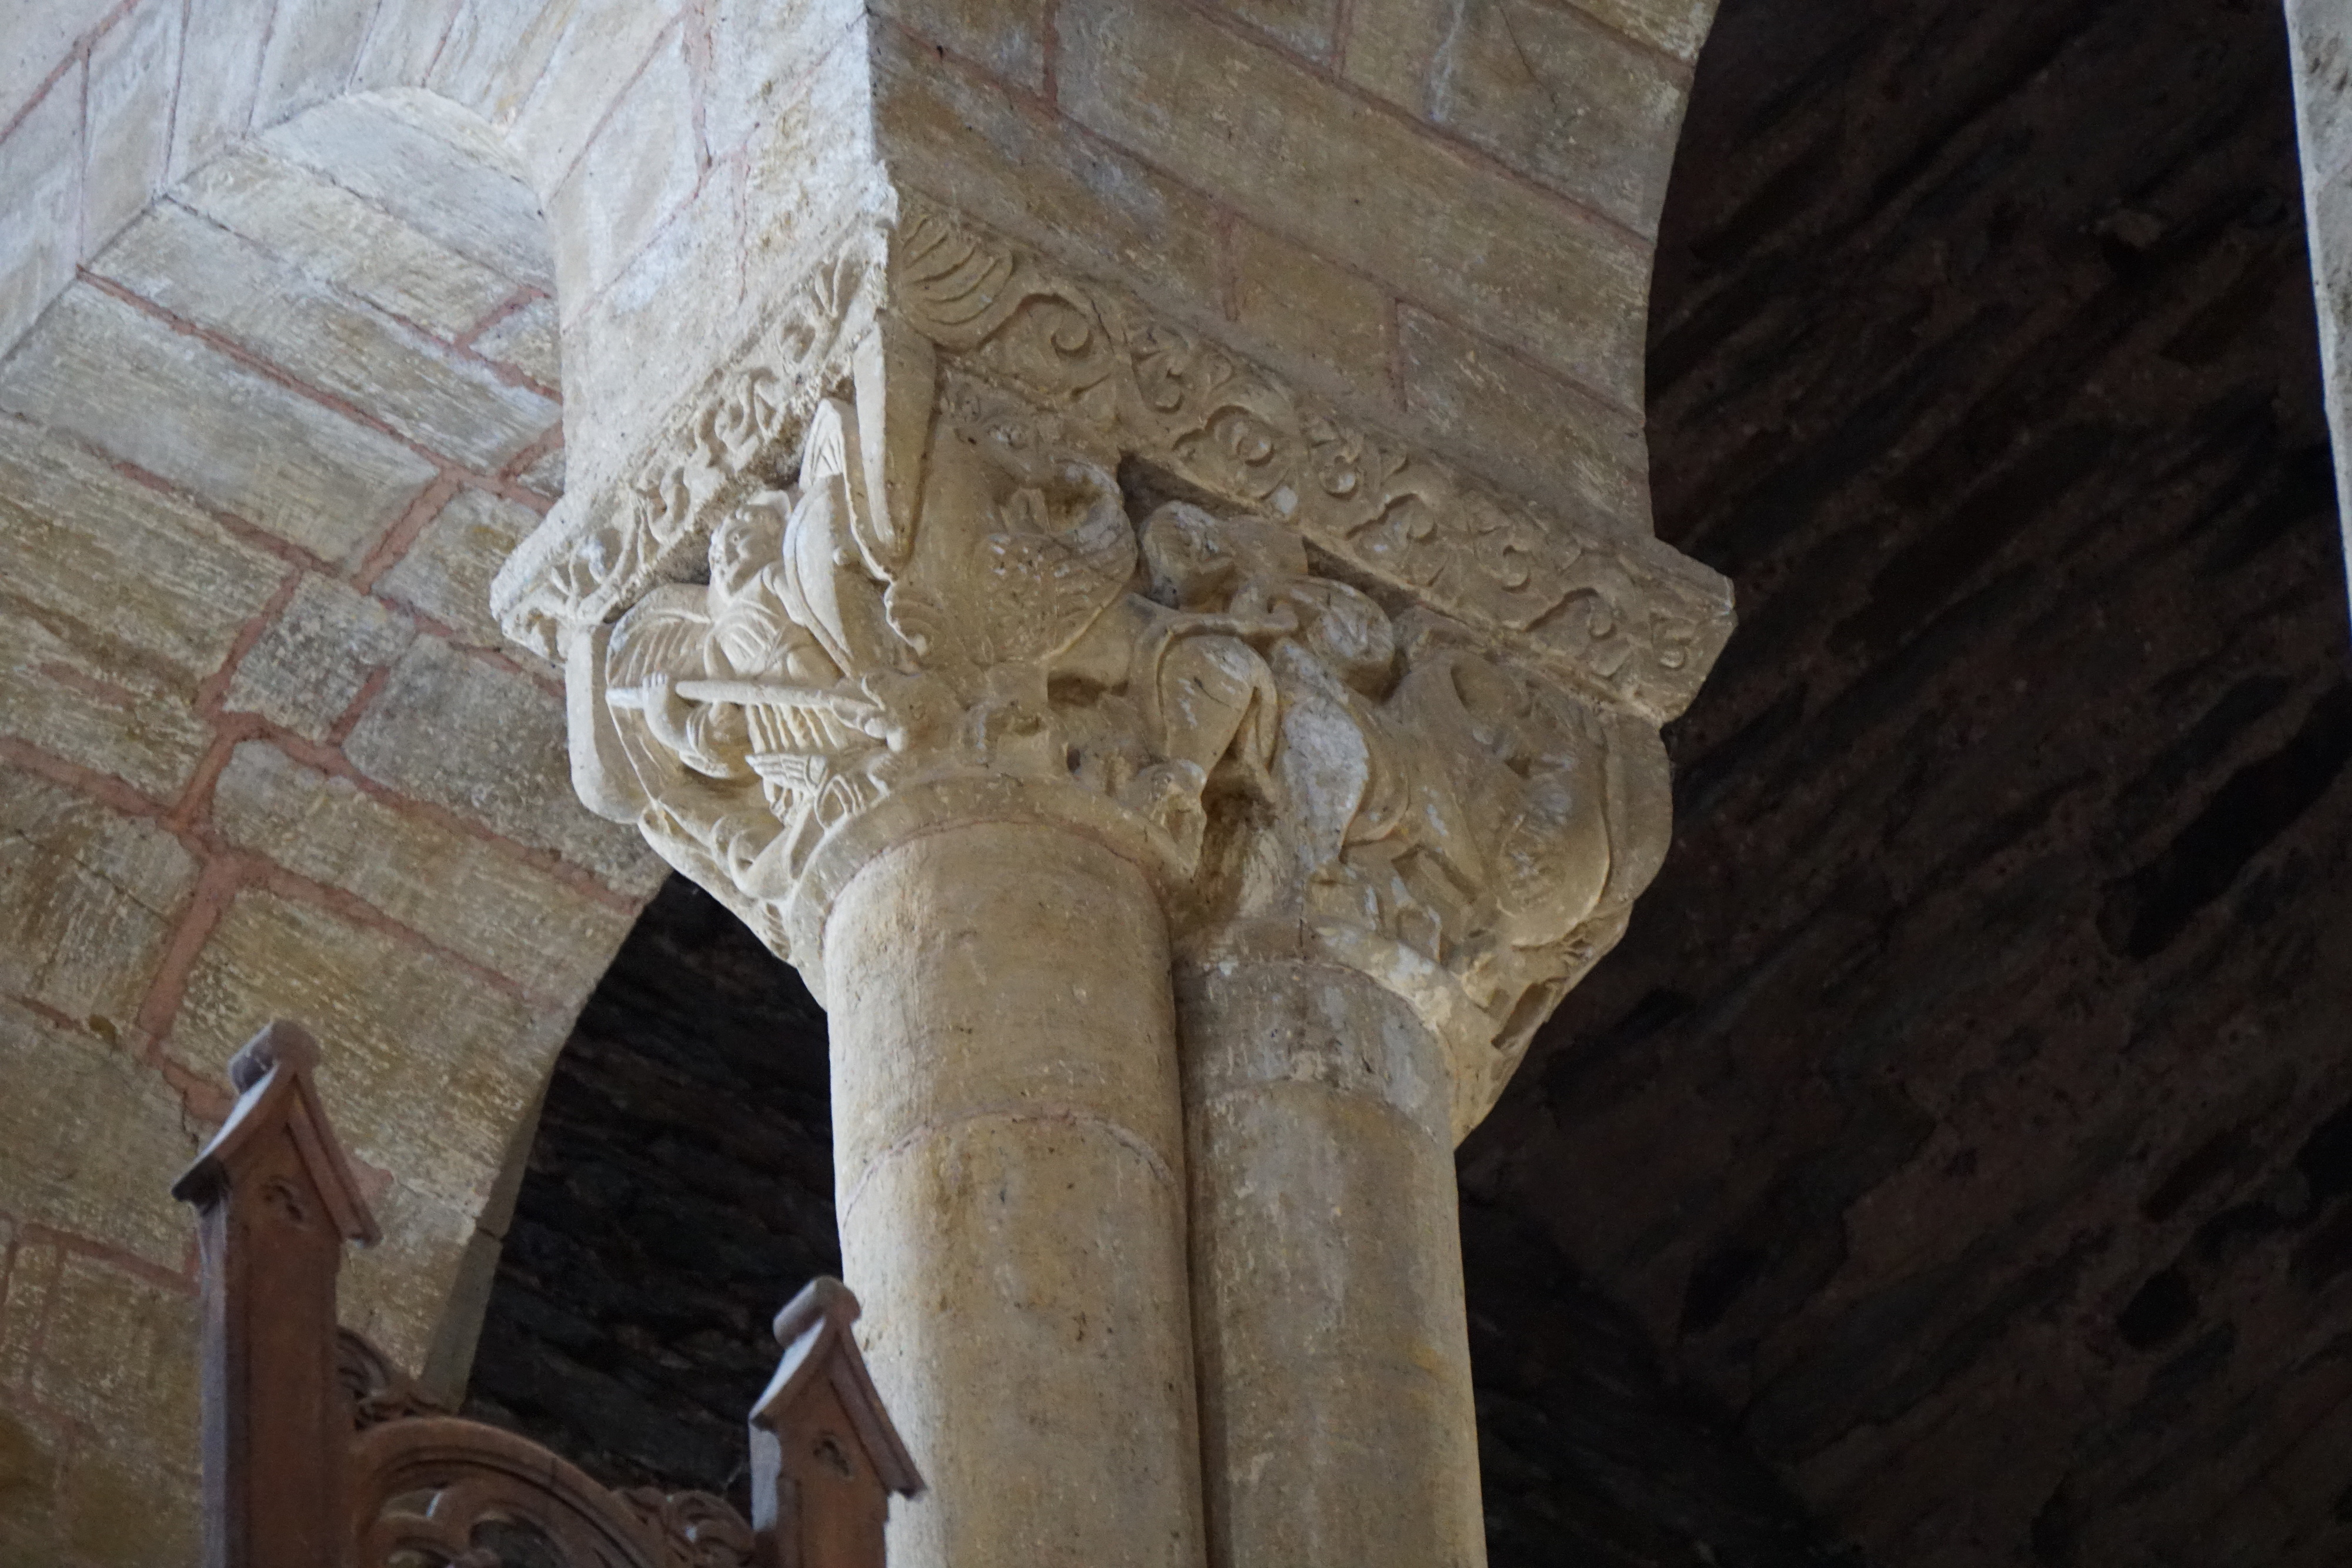
[[[1472,1568],[1454,1143],[1625,931],[1665,750],[1277,527],[1164,508],[1145,552],[1164,597],[1256,623],[1272,712],[1178,980],[1209,1561]]]

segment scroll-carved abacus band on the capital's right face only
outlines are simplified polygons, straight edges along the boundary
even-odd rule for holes
[[[1651,724],[1731,635],[1729,583],[1623,520],[1538,517],[978,226],[910,202],[889,268],[891,310],[960,367]]]

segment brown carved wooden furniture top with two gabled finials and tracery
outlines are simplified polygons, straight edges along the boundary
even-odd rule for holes
[[[437,1408],[336,1328],[346,1241],[376,1227],[273,1023],[240,1100],[172,1194],[200,1213],[205,1568],[882,1568],[891,1495],[922,1479],[866,1375],[856,1298],[811,1284],[750,1418],[755,1519],[710,1493],[612,1490],[529,1439]]]

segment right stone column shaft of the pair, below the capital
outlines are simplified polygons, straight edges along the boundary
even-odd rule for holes
[[[1449,1077],[1352,969],[1188,966],[1209,1561],[1486,1561]]]

